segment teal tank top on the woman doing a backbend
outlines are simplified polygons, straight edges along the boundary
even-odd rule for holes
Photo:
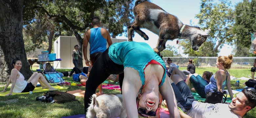
[[[139,72],[142,86],[145,84],[145,66],[151,60],[155,60],[164,69],[162,82],[159,87],[164,83],[166,75],[165,64],[161,57],[147,43],[133,41],[114,43],[109,47],[108,55],[116,64],[123,65],[124,68],[131,67],[136,69]]]

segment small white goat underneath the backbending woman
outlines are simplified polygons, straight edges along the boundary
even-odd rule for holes
[[[110,95],[103,94],[91,97],[92,103],[87,108],[86,118],[126,118],[126,110],[123,104],[123,96],[121,94]]]

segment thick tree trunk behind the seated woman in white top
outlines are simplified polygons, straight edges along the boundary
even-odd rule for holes
[[[28,79],[32,71],[27,63],[22,28],[23,0],[0,0],[0,82],[7,82],[16,57],[22,61],[20,72]]]

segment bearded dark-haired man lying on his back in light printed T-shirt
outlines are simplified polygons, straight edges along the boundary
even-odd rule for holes
[[[182,118],[220,118],[225,116],[228,118],[242,118],[246,112],[256,106],[256,94],[247,89],[243,89],[238,93],[232,102],[228,104],[209,104],[197,102],[190,89],[179,75],[172,76],[173,82],[171,84],[177,99],[178,107],[185,113],[180,111]],[[181,104],[183,106],[181,106]],[[186,106],[191,105],[191,108]]]

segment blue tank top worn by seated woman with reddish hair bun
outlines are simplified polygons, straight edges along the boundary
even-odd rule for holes
[[[209,84],[205,86],[205,88],[204,88],[205,93],[207,93],[208,91],[217,89],[217,80],[214,79],[214,75],[211,76]],[[222,89],[224,89],[226,84],[227,84],[227,72],[226,72],[226,80],[224,82],[222,82]]]

